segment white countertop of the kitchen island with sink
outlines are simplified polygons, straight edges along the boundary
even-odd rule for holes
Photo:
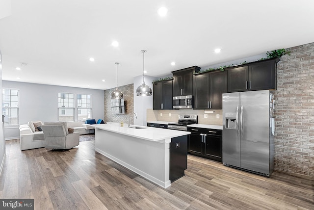
[[[124,125],[124,127],[120,127],[119,123],[96,124],[96,125],[91,125],[91,126],[96,129],[116,132],[123,135],[141,138],[141,139],[145,139],[149,141],[160,141],[164,139],[170,139],[173,137],[188,135],[191,133],[189,131],[177,131],[177,130],[168,130],[168,129],[150,128],[146,126],[131,125],[131,127],[136,126],[136,127],[144,128],[144,129],[133,129],[133,128],[128,128],[128,125],[126,124]]]

